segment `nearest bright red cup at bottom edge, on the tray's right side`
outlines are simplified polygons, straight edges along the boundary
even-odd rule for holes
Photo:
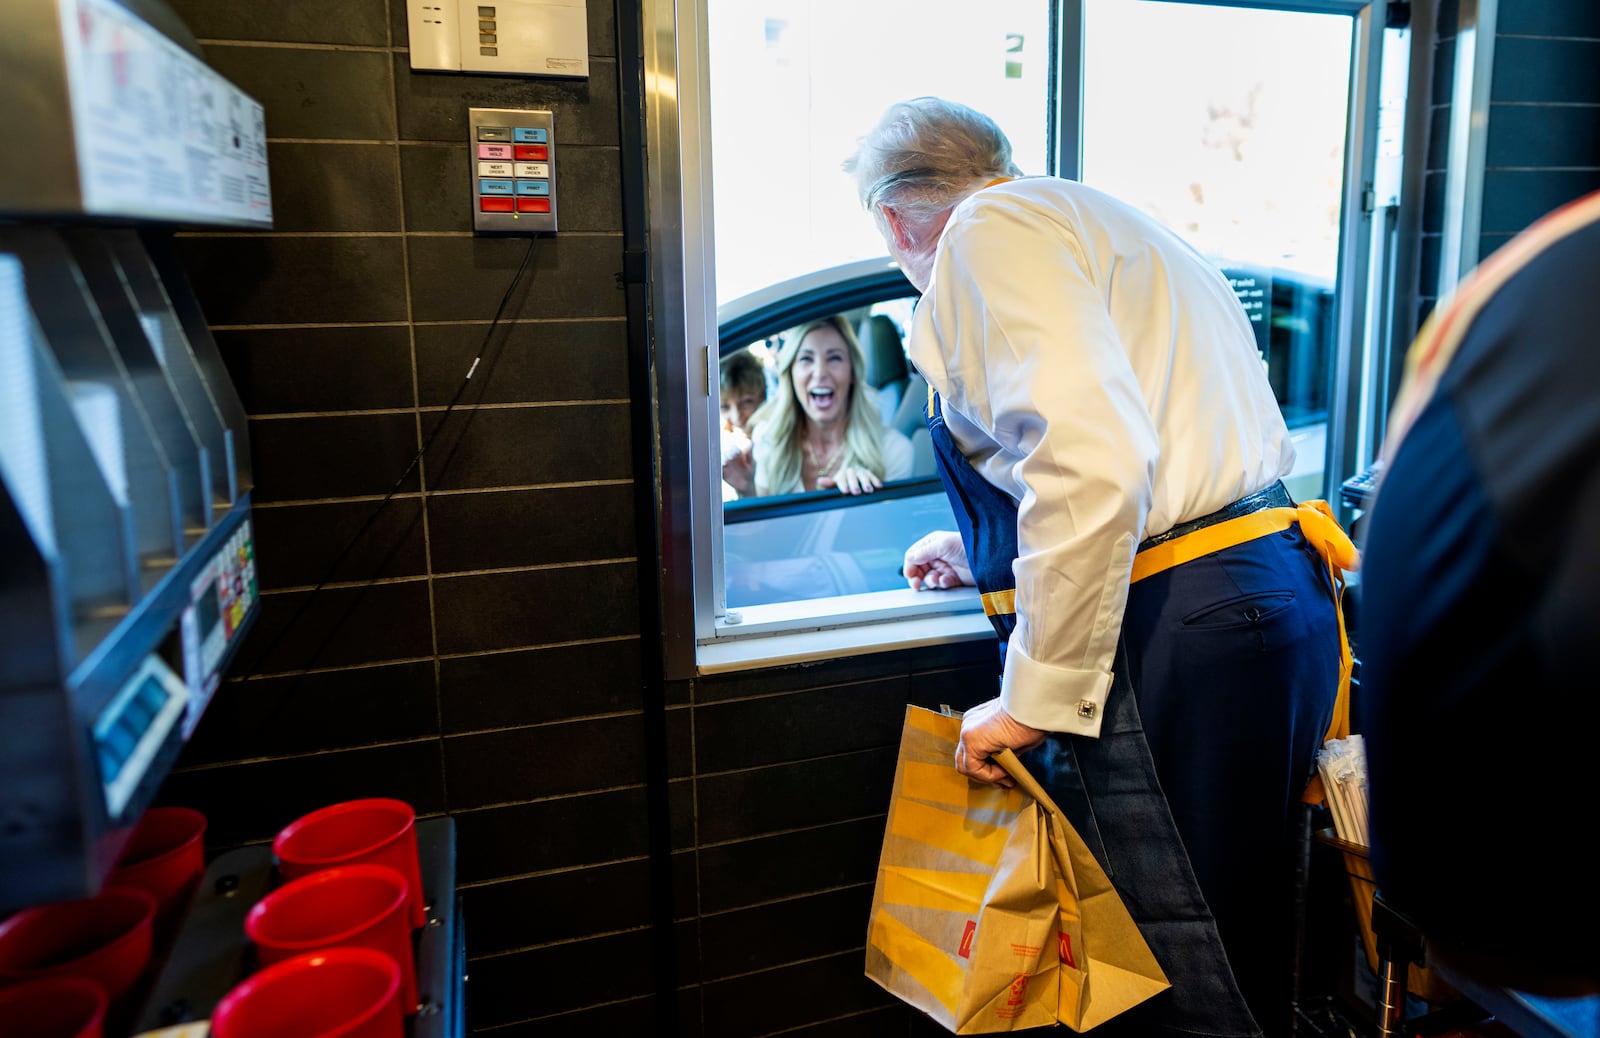
[[[211,1011],[211,1038],[403,1038],[400,966],[371,948],[307,952],[253,972]]]

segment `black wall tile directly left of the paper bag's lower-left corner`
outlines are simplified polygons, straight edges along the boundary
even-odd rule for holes
[[[701,969],[720,980],[866,948],[872,884],[701,918]]]

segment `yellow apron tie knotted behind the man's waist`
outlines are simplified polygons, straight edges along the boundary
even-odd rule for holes
[[[1133,557],[1133,581],[1142,581],[1173,566],[1221,552],[1222,549],[1266,537],[1299,523],[1306,541],[1328,563],[1328,585],[1333,587],[1333,611],[1339,617],[1339,694],[1333,702],[1333,720],[1328,723],[1328,739],[1344,739],[1350,734],[1350,672],[1355,661],[1350,656],[1350,638],[1344,630],[1344,574],[1360,568],[1362,557],[1355,544],[1333,517],[1326,501],[1302,501],[1293,509],[1262,509],[1240,515],[1213,526],[1157,544]],[[1312,776],[1310,785],[1301,795],[1309,804],[1323,801],[1322,776]]]

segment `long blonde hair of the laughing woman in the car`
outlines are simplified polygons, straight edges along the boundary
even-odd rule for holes
[[[805,457],[806,419],[800,408],[800,397],[795,393],[794,363],[800,353],[800,344],[818,328],[837,331],[850,352],[845,446],[834,470],[853,465],[883,478],[883,437],[878,409],[875,401],[867,397],[872,392],[866,382],[867,360],[850,321],[835,313],[784,333],[784,345],[778,352],[778,392],[750,416],[750,427],[760,425],[763,438],[771,443],[771,449],[763,451],[755,467],[758,494],[790,494],[803,489],[800,473]]]

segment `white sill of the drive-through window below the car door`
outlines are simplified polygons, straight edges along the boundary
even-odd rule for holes
[[[872,592],[736,611],[698,646],[698,670],[726,673],[994,638],[976,589]]]

